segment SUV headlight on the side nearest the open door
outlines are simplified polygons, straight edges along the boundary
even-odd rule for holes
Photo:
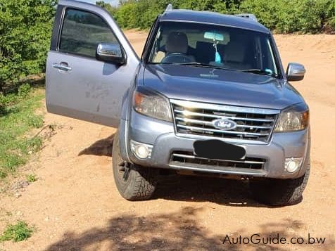
[[[134,110],[158,120],[172,121],[170,103],[164,96],[138,87],[134,91]]]

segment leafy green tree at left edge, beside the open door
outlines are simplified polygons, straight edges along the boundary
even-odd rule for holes
[[[0,92],[44,70],[55,0],[0,0]]]

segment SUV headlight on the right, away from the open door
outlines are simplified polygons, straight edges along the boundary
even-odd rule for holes
[[[310,113],[305,105],[295,105],[280,113],[274,132],[299,131],[308,127]]]

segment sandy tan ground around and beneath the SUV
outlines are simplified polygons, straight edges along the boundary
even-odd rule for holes
[[[127,32],[138,53],[146,39]],[[294,86],[310,105],[312,172],[303,202],[270,208],[251,199],[240,181],[167,179],[153,200],[128,202],[113,183],[115,129],[46,114],[56,135],[40,153],[39,180],[20,198],[0,199],[0,231],[14,219],[36,228],[21,243],[0,250],[335,250],[335,36],[276,36],[284,65],[303,63],[308,73]],[[13,214],[6,216],[7,212]],[[291,238],[326,237],[324,245],[222,245],[228,234]]]

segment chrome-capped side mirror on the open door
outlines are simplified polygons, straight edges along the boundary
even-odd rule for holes
[[[108,63],[123,65],[127,59],[123,53],[120,44],[98,44],[96,47],[96,59]]]

